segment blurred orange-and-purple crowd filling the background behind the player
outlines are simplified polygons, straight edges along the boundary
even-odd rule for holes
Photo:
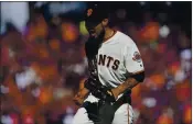
[[[191,124],[192,41],[178,24],[150,12],[135,23],[117,11],[114,26],[138,45],[146,80],[132,89],[135,124]],[[71,124],[73,97],[87,77],[84,21],[34,13],[24,32],[11,23],[0,35],[0,124]]]

